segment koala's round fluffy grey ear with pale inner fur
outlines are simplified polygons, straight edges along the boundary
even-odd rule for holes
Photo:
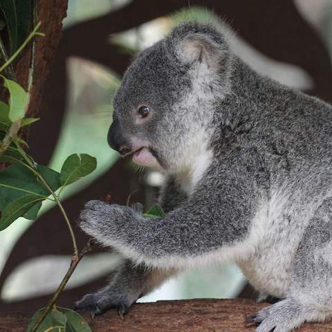
[[[182,24],[174,28],[168,42],[172,55],[184,65],[204,62],[215,68],[228,58],[223,35],[210,24]]]

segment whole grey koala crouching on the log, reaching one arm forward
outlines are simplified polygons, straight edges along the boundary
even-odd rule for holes
[[[287,332],[332,316],[332,107],[253,71],[210,24],[143,50],[114,99],[108,141],[167,181],[166,214],[89,201],[80,227],[125,258],[77,309],[125,313],[168,277],[232,259],[279,302],[249,317]]]

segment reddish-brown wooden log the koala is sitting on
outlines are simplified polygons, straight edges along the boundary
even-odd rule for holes
[[[188,299],[135,304],[122,321],[116,310],[97,316],[91,322],[93,332],[244,332],[249,315],[268,304],[249,299]],[[30,315],[0,313],[0,332],[24,332]],[[332,323],[304,324],[299,332],[331,332]]]

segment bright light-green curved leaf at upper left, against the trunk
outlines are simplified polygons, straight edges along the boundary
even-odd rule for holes
[[[28,93],[16,82],[3,78],[3,86],[9,90],[9,113],[8,116],[12,122],[24,118],[26,113],[26,102],[28,100]]]

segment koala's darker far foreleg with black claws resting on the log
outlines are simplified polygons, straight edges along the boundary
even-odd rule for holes
[[[85,295],[75,303],[75,310],[101,315],[110,308],[117,308],[123,315],[131,304],[160,286],[173,273],[172,270],[133,266],[130,261],[125,261],[108,286]]]

